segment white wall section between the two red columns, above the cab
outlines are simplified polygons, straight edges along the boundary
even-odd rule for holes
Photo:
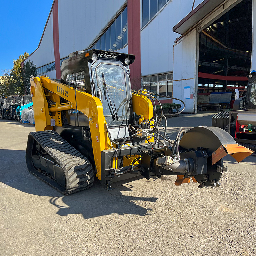
[[[60,59],[90,47],[126,0],[61,0],[59,11]]]

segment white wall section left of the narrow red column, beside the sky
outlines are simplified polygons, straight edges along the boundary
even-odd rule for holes
[[[44,36],[42,38],[39,48],[30,55],[27,60],[33,62],[36,67],[43,66],[45,64],[54,61],[54,49],[53,49],[53,24],[52,24],[52,13],[50,14],[47,26],[44,31]],[[51,78],[56,78],[55,71],[48,72],[51,73]],[[49,76],[49,74],[47,75]],[[53,77],[54,73],[54,77]]]

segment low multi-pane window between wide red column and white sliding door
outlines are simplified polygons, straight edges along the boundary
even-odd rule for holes
[[[172,97],[173,81],[172,73],[143,76],[143,89],[157,94]]]

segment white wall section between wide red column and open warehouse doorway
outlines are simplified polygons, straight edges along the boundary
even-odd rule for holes
[[[196,0],[194,9],[203,0]],[[173,70],[172,28],[192,10],[193,0],[171,0],[141,30],[141,73],[143,76]]]

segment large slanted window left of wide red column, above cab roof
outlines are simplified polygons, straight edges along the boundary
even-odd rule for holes
[[[123,48],[125,44],[127,44],[127,6],[96,39],[95,43],[84,51],[90,49],[116,51]]]

